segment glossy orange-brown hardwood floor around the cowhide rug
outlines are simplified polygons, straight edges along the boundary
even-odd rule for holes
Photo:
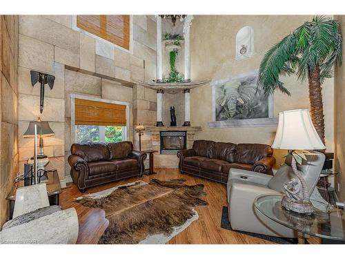
[[[187,184],[204,184],[208,202],[207,207],[197,207],[199,219],[170,240],[169,244],[273,244],[267,240],[254,238],[235,231],[221,229],[221,209],[226,206],[226,185],[212,182],[191,175],[181,175],[177,169],[156,169],[155,175],[144,175],[143,178],[130,178],[110,184],[103,184],[90,189],[85,193],[79,192],[75,184],[61,193],[60,202],[63,209],[75,207],[79,218],[78,244],[96,244],[99,237],[108,227],[108,220],[104,218],[104,211],[101,209],[90,209],[81,204],[73,202],[73,199],[87,193],[103,191],[120,184],[143,180],[148,182],[152,178],[168,180],[175,178],[185,178]]]

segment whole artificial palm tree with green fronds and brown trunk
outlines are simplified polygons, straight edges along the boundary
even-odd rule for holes
[[[266,94],[275,90],[290,95],[280,75],[297,75],[297,79],[309,83],[311,119],[322,142],[324,141],[324,111],[322,83],[333,77],[336,61],[342,64],[342,35],[339,23],[326,17],[307,21],[264,56],[259,68],[258,84]]]

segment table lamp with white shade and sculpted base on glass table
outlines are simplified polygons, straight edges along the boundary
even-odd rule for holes
[[[295,211],[303,214],[313,214],[314,207],[311,203],[306,189],[306,182],[303,175],[297,170],[296,160],[302,163],[306,156],[311,154],[308,150],[320,150],[325,146],[322,143],[307,109],[283,111],[278,115],[279,121],[277,133],[272,147],[288,149],[292,155],[291,167],[299,182],[292,179],[282,200],[282,207],[288,211]]]

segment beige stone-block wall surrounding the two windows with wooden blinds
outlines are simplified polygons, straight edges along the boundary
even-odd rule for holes
[[[20,169],[33,153],[33,140],[24,139],[31,120],[50,122],[55,136],[46,137],[44,151],[64,184],[70,174],[70,93],[130,102],[130,140],[138,113],[155,122],[155,91],[143,90],[150,104],[138,111],[135,81],[155,79],[155,17],[133,17],[132,50],[124,51],[72,29],[70,15],[19,16],[19,160]],[[110,51],[110,52],[109,52]],[[39,113],[39,86],[32,88],[30,70],[55,75],[52,90],[46,87],[43,113]],[[112,81],[106,80],[112,79]],[[126,86],[121,86],[117,83]],[[134,86],[133,86],[134,85]],[[132,107],[133,106],[133,107]]]

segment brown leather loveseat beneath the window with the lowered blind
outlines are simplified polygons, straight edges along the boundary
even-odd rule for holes
[[[72,144],[68,163],[78,189],[142,176],[146,154],[133,150],[132,142]]]

